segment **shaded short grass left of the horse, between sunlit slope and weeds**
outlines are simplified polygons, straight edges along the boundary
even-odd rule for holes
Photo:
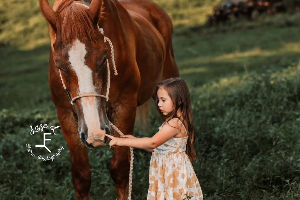
[[[53,104],[48,84],[49,46],[29,51],[3,48],[0,59],[0,109],[14,107],[23,112]]]

